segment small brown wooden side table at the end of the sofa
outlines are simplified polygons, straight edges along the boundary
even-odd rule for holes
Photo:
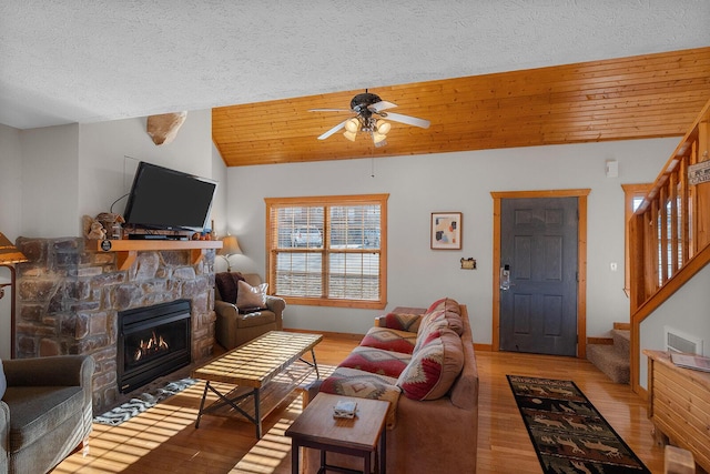
[[[354,418],[333,417],[333,407],[338,401],[351,400],[357,403]],[[318,473],[331,471],[354,472],[328,465],[326,452],[349,454],[364,460],[365,474],[372,473],[371,455],[379,457],[379,473],[385,474],[386,430],[385,416],[389,402],[368,399],[353,399],[329,393],[318,393],[296,421],[286,430],[292,440],[292,473],[300,474],[301,447],[321,451]]]

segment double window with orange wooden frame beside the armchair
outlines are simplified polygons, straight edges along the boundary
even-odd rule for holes
[[[267,198],[268,285],[291,304],[387,304],[389,194]]]

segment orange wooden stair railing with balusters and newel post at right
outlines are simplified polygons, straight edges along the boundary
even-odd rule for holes
[[[710,262],[709,150],[710,100],[628,222],[631,387],[639,394],[641,322]],[[691,183],[689,171],[701,182]]]

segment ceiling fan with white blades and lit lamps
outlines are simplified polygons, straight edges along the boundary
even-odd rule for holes
[[[393,122],[406,123],[407,125],[419,127],[422,129],[429,128],[429,121],[424,119],[417,119],[416,117],[403,115],[400,113],[385,112],[386,110],[394,109],[397,104],[382,100],[379,95],[367,92],[357,94],[351,100],[351,109],[311,109],[311,112],[348,112],[355,113],[352,117],[337,125],[333,127],[327,132],[318,137],[318,140],[325,140],[333,133],[341,129],[345,129],[343,135],[349,141],[355,141],[357,132],[369,133],[373,138],[375,147],[383,147],[387,143],[387,133],[392,129],[389,122],[383,119],[390,120]]]

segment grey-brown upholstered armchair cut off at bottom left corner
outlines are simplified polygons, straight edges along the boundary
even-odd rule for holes
[[[48,473],[91,432],[95,363],[90,355],[0,364],[0,473]]]

